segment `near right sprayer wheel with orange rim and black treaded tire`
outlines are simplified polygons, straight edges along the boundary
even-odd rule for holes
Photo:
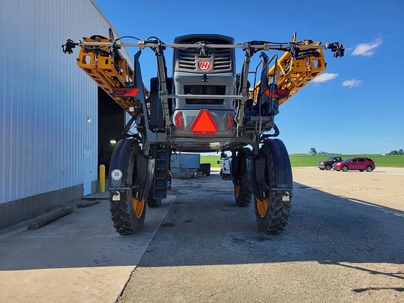
[[[288,152],[281,140],[269,140],[262,146],[260,152],[265,156],[265,182],[269,184],[270,190],[263,199],[255,197],[255,217],[258,229],[264,234],[279,234],[288,224],[292,192],[273,190],[277,184],[275,170],[276,168],[284,170],[284,174],[288,176],[287,179],[292,178],[292,168]],[[276,168],[274,161],[277,162]],[[292,184],[291,180],[290,184]]]

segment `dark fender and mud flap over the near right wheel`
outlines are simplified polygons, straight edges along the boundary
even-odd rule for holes
[[[274,175],[267,171],[269,161],[274,166]],[[248,177],[254,196],[261,200],[267,198],[270,191],[292,191],[292,168],[285,144],[278,139],[266,140],[258,156],[248,163]]]

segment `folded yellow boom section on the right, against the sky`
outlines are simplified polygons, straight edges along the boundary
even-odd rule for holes
[[[318,46],[320,42],[299,41],[298,45]],[[275,69],[276,67],[276,69]],[[278,59],[276,65],[272,66],[268,72],[269,81],[272,80],[276,70],[276,89],[289,90],[286,97],[278,98],[279,105],[282,105],[289,100],[292,95],[295,95],[303,86],[313,80],[318,74],[325,70],[325,60],[323,50],[316,48],[314,51],[301,51],[296,59],[292,58],[290,52],[285,52]],[[269,84],[269,83],[268,83]],[[257,102],[257,96],[260,91],[260,82],[255,85],[253,90],[253,99]]]

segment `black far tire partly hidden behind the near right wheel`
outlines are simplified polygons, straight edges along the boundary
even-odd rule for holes
[[[231,159],[231,168],[233,168],[234,198],[236,199],[236,205],[240,207],[249,206],[253,195],[247,173],[247,161],[250,156],[250,149],[245,147],[238,151],[238,154],[234,159]]]

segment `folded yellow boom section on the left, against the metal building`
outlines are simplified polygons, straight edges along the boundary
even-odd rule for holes
[[[100,36],[84,38],[83,41],[111,42],[110,39]],[[126,83],[132,83],[134,80],[133,69],[120,53],[111,56],[108,46],[81,46],[77,65],[130,114],[129,107],[134,107],[134,103],[130,99],[118,97],[112,92],[112,88],[126,87]]]

